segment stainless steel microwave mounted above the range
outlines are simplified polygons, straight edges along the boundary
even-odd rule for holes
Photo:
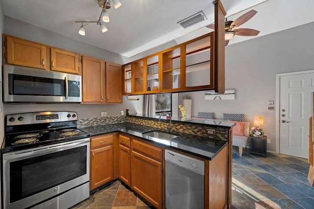
[[[81,76],[3,65],[4,103],[80,103]]]

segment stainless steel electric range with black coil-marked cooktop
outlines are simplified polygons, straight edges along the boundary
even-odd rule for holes
[[[67,209],[89,198],[89,134],[77,113],[6,115],[1,147],[4,209]]]

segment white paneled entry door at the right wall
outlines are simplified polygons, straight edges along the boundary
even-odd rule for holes
[[[314,73],[280,77],[280,154],[309,157]]]

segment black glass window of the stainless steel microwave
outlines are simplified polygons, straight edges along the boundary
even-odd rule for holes
[[[65,96],[65,80],[9,74],[10,95]]]

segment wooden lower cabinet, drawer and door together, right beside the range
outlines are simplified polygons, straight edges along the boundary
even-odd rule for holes
[[[113,180],[112,142],[112,134],[91,138],[90,190]]]

